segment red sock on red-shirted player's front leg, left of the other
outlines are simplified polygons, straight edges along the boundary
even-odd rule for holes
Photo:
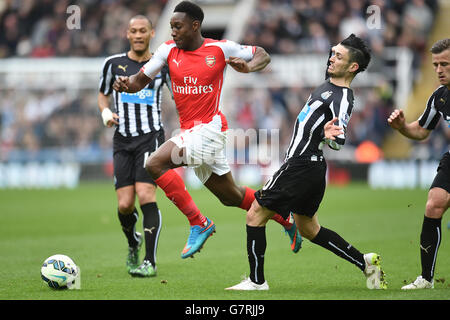
[[[174,170],[168,170],[155,182],[165,192],[167,198],[188,218],[191,226],[204,225],[206,217],[200,213],[178,173]]]

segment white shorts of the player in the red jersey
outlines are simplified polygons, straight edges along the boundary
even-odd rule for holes
[[[209,123],[201,123],[170,139],[178,148],[185,148],[187,165],[205,183],[211,174],[221,176],[230,172],[226,157],[226,131],[222,131],[219,115]]]

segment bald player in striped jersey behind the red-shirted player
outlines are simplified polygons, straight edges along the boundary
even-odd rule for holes
[[[113,79],[133,75],[152,56],[150,40],[154,36],[151,22],[142,15],[130,19],[127,39],[130,50],[106,58],[98,93],[98,107],[103,123],[116,126],[114,133],[114,186],[118,202],[118,218],[128,240],[126,267],[132,276],[156,275],[156,250],[161,230],[161,212],[156,203],[156,183],[145,170],[145,160],[164,143],[161,123],[161,90],[170,88],[168,70],[154,77],[138,94],[113,90]],[[114,113],[109,108],[114,96]],[[136,196],[143,213],[144,235],[136,231],[138,211]],[[145,257],[140,264],[139,249],[145,240]]]

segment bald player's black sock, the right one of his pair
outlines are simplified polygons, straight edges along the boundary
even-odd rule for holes
[[[141,206],[144,216],[145,258],[156,266],[156,250],[158,248],[159,233],[161,231],[161,212],[156,202],[149,202]]]

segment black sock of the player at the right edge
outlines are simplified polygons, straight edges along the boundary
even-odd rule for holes
[[[437,252],[441,244],[441,220],[424,217],[420,234],[420,261],[422,278],[432,281]]]

